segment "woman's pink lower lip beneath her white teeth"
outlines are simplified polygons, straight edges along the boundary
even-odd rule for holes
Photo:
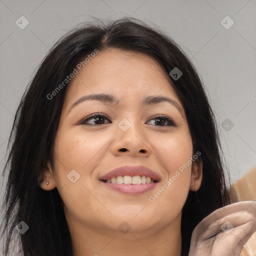
[[[101,182],[103,182],[106,186],[124,194],[142,194],[148,190],[151,190],[157,184],[157,182],[139,185],[108,183],[104,181]]]

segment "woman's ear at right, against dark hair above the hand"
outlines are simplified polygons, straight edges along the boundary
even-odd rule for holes
[[[197,158],[192,162],[191,178],[190,178],[190,190],[197,191],[200,188],[202,182],[202,160]]]

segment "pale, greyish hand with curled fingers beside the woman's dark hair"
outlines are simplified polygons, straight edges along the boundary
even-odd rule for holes
[[[235,256],[256,231],[256,201],[216,209],[194,228],[188,256]]]

